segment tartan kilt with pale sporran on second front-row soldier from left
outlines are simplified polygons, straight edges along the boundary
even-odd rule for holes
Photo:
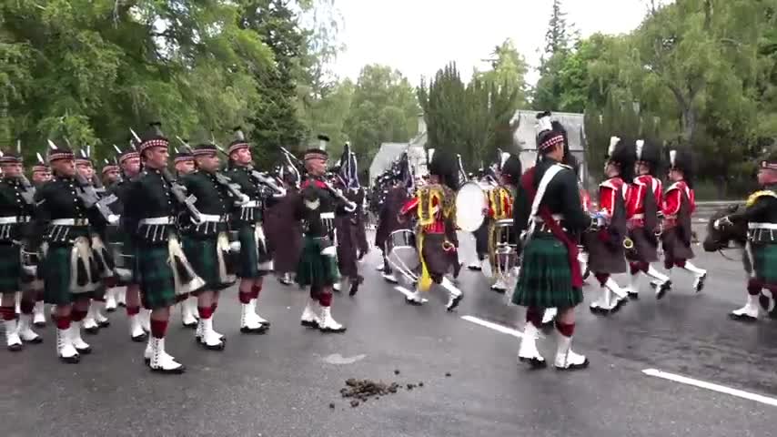
[[[79,237],[86,239],[86,237]],[[88,243],[86,243],[88,244]],[[94,257],[75,259],[74,244],[50,244],[38,264],[38,275],[44,282],[44,301],[52,305],[68,305],[76,298],[91,298],[99,285],[99,273]],[[89,248],[91,252],[91,248]],[[82,261],[79,263],[79,261]],[[80,264],[80,265],[79,265]],[[88,270],[88,271],[87,271]],[[76,280],[73,280],[73,272]]]

